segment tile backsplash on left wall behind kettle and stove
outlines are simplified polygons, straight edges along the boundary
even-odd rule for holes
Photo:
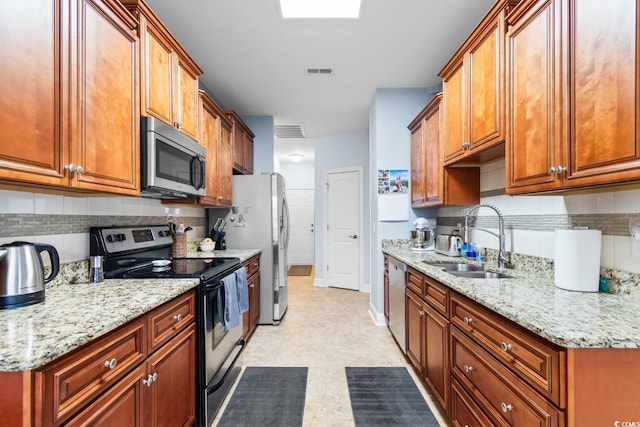
[[[0,244],[17,240],[49,243],[61,263],[89,257],[89,227],[122,224],[162,224],[165,208],[180,209],[179,220],[193,227],[190,241],[205,235],[204,209],[165,205],[142,197],[69,197],[0,190]],[[48,262],[45,260],[45,265]]]

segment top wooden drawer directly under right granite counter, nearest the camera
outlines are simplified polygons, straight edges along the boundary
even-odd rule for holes
[[[564,351],[457,294],[451,295],[451,322],[545,397],[565,407],[566,391],[560,389]]]

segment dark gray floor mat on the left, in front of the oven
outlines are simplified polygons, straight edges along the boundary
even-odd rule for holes
[[[217,425],[302,426],[308,370],[247,367]]]

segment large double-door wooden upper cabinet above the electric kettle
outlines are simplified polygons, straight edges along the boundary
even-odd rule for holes
[[[0,179],[139,194],[133,17],[114,0],[28,0],[0,15]]]

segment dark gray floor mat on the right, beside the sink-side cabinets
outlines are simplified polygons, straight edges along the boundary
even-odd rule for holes
[[[406,368],[345,368],[356,427],[438,427]]]

